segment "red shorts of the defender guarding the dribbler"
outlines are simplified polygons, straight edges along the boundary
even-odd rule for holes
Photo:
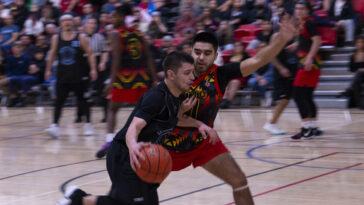
[[[185,152],[169,151],[172,157],[172,171],[184,169],[191,164],[193,167],[202,166],[216,156],[229,152],[225,145],[219,140],[215,144],[209,142],[209,137],[197,147]]]

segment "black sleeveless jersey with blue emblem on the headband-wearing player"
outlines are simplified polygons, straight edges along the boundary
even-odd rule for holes
[[[70,41],[58,38],[57,83],[79,83],[82,78],[84,52],[81,49],[79,34]]]

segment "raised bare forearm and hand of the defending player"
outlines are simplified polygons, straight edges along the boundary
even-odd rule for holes
[[[259,51],[255,56],[248,58],[240,63],[240,72],[244,77],[249,76],[253,72],[265,64],[271,62],[283,47],[289,42],[296,33],[293,20],[289,23],[280,24],[280,31],[270,44]]]

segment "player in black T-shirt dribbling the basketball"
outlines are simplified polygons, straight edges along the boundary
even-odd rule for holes
[[[144,160],[140,149],[150,142],[161,143],[181,120],[181,113],[192,108],[193,98],[183,102],[180,94],[193,82],[193,58],[183,52],[172,52],[163,62],[166,78],[147,91],[138,101],[124,128],[120,130],[108,150],[107,170],[112,186],[107,196],[87,195],[81,189],[70,186],[66,189],[61,205],[157,205],[159,184],[142,181],[135,173],[139,160]],[[183,111],[181,111],[183,110]],[[205,128],[209,129],[208,126]],[[200,129],[204,132],[204,129]],[[213,134],[213,133],[212,133]]]

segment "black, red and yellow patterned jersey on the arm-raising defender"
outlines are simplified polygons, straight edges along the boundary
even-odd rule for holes
[[[186,114],[213,127],[227,83],[239,77],[242,77],[239,63],[221,67],[213,65],[195,79],[192,87],[183,94],[183,98],[191,96],[197,98],[196,105]],[[181,152],[196,147],[203,140],[198,128],[177,126],[161,144],[169,150]]]

